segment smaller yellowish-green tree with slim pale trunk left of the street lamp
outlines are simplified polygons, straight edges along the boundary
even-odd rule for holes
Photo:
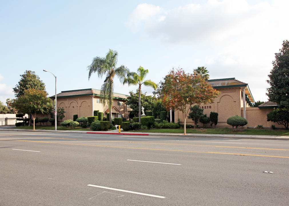
[[[34,122],[33,130],[35,130],[36,114],[48,114],[53,110],[52,100],[47,96],[45,90],[28,89],[12,103],[18,112],[31,114]]]

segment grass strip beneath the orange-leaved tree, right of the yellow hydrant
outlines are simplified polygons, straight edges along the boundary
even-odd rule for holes
[[[184,128],[179,129],[142,129],[131,132],[152,132],[152,133],[184,133]],[[289,130],[284,129],[238,129],[236,132],[231,128],[205,128],[205,129],[186,129],[186,133],[196,134],[232,134],[232,135],[289,135]]]

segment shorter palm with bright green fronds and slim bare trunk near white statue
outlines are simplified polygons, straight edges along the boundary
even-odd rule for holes
[[[144,78],[149,73],[148,69],[144,69],[143,67],[139,67],[137,73],[129,72],[127,74],[127,78],[123,80],[123,84],[128,85],[138,85],[138,122],[140,122],[140,93],[142,84],[147,87],[152,87],[153,89],[157,89],[158,85],[151,80],[144,80]]]

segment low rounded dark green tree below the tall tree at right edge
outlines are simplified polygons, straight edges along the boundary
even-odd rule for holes
[[[267,121],[277,122],[284,125],[285,129],[288,129],[289,110],[286,108],[274,108],[273,111],[267,114]]]

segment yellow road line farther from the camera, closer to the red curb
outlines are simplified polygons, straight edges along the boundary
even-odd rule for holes
[[[5,136],[7,135],[0,135]],[[31,137],[31,136],[14,136],[9,135],[9,137]],[[58,137],[34,137],[34,138],[46,138],[46,139],[70,139],[70,140],[87,140],[87,141],[107,141],[107,142],[127,142],[131,143],[131,141],[116,141],[116,140],[97,140],[97,139],[72,139],[72,138],[58,138]],[[259,149],[259,150],[282,150],[288,151],[286,149],[271,149],[271,148],[254,148],[254,147],[230,147],[230,146],[213,146],[213,145],[198,145],[198,144],[172,144],[172,143],[156,143],[156,142],[133,142],[140,144],[165,144],[165,145],[184,145],[184,146],[204,146],[204,147],[222,147],[222,148],[241,148],[241,149]]]

